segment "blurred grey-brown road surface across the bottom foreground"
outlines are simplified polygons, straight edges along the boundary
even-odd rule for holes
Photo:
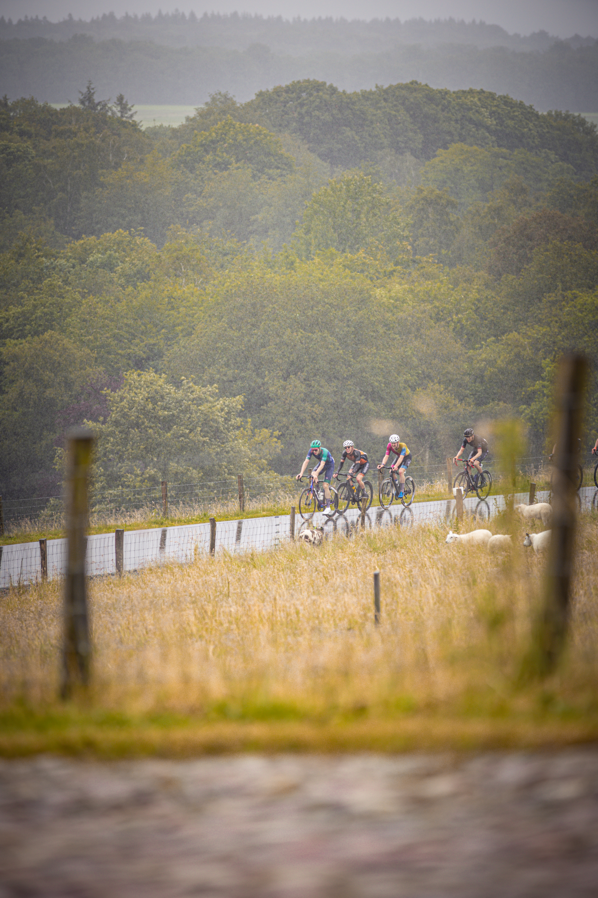
[[[0,762],[2,898],[598,894],[598,748]]]

